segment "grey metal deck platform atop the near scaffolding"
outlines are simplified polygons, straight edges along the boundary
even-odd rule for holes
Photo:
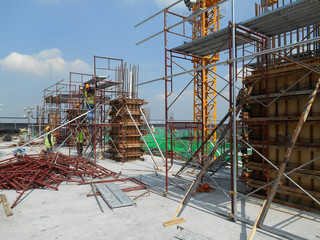
[[[320,3],[314,0],[299,0],[277,8],[273,11],[253,17],[237,25],[244,26],[253,32],[267,37],[276,36],[299,28],[319,24]],[[226,27],[217,32],[198,38],[172,50],[197,56],[208,56],[229,49],[230,28]],[[241,32],[246,40],[238,38],[236,45],[259,40],[259,38]]]

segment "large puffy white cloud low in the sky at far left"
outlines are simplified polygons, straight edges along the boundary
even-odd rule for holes
[[[66,74],[69,71],[89,72],[90,66],[80,59],[66,61],[59,49],[46,49],[33,55],[12,52],[0,60],[2,71],[30,74],[38,77],[52,74]]]

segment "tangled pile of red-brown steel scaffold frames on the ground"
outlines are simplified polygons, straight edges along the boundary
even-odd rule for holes
[[[119,174],[85,158],[69,157],[58,152],[42,151],[36,155],[0,161],[0,189],[22,191],[12,208],[28,189],[49,187],[58,190],[63,181],[86,183],[86,177],[102,179],[118,176]]]

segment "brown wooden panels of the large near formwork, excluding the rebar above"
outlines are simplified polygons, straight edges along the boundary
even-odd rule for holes
[[[309,63],[318,65],[319,61],[320,59],[315,59],[309,61]],[[268,122],[268,134],[265,133],[265,130],[263,132],[262,127],[252,129],[249,134],[249,143],[278,167],[283,161],[308,96],[319,78],[317,74],[308,74],[308,72],[309,70],[292,64],[270,69],[268,102],[265,77],[261,77],[259,71],[254,72],[245,81],[248,86],[253,84],[252,97],[264,104],[270,103],[280,94],[283,94],[269,106],[268,111],[265,106],[257,101],[249,100],[252,111],[249,112],[249,118],[246,119],[249,122],[254,122],[255,125],[259,125],[260,122],[261,126],[265,124],[264,122]],[[297,83],[297,81],[299,82]],[[288,90],[287,88],[293,84],[295,85]],[[320,156],[320,95],[316,97],[309,118],[300,132],[286,172],[309,162],[317,156]],[[277,170],[272,166],[267,167],[267,165],[267,162],[255,152],[248,157],[244,168],[249,173],[248,186],[256,189],[275,179]],[[320,160],[306,165],[291,174],[290,177],[320,200]],[[268,188],[264,188],[258,194],[267,196],[268,190]],[[320,206],[287,179],[282,181],[275,201],[283,204],[288,203],[287,205],[312,212],[320,212]]]

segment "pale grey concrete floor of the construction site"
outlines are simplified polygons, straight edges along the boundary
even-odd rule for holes
[[[10,147],[10,144],[0,142],[0,155],[15,149]],[[39,147],[26,149],[27,154],[40,152]],[[61,148],[59,151],[65,154],[69,152],[68,148]],[[75,153],[73,155],[75,156]],[[156,157],[156,161],[159,167],[164,169],[162,159]],[[158,171],[156,174],[148,155],[145,155],[145,161],[121,163],[106,159],[98,160],[97,163],[114,172],[121,171],[122,176],[141,180],[150,186],[150,193],[136,199],[136,206],[114,210],[98,196],[104,210],[101,212],[95,198],[87,197],[87,194],[91,193],[90,185],[64,182],[59,186],[59,191],[29,190],[24,194],[23,200],[13,208],[13,216],[6,217],[3,208],[0,208],[0,239],[248,239],[250,235],[250,225],[241,221],[230,221],[218,213],[230,212],[230,199],[227,197],[229,194],[221,190],[195,193],[180,216],[186,222],[170,227],[163,226],[164,222],[171,220],[195,178],[188,173],[182,174],[182,178],[172,176],[181,167],[181,161],[175,161],[170,170],[172,181],[167,197],[163,196],[165,172]],[[223,167],[213,178],[228,189],[229,175],[229,168]],[[206,177],[204,182],[217,187],[209,177]],[[245,186],[241,183],[239,188],[245,191]],[[146,190],[126,194],[133,199],[144,192]],[[10,204],[18,196],[14,190],[0,190],[0,194],[5,194]],[[239,216],[255,221],[261,204],[262,201],[256,198],[240,200],[237,205]],[[319,215],[278,204],[272,205],[265,225],[301,239],[320,239]],[[201,236],[196,237],[195,234]],[[258,229],[254,239],[283,238]]]

